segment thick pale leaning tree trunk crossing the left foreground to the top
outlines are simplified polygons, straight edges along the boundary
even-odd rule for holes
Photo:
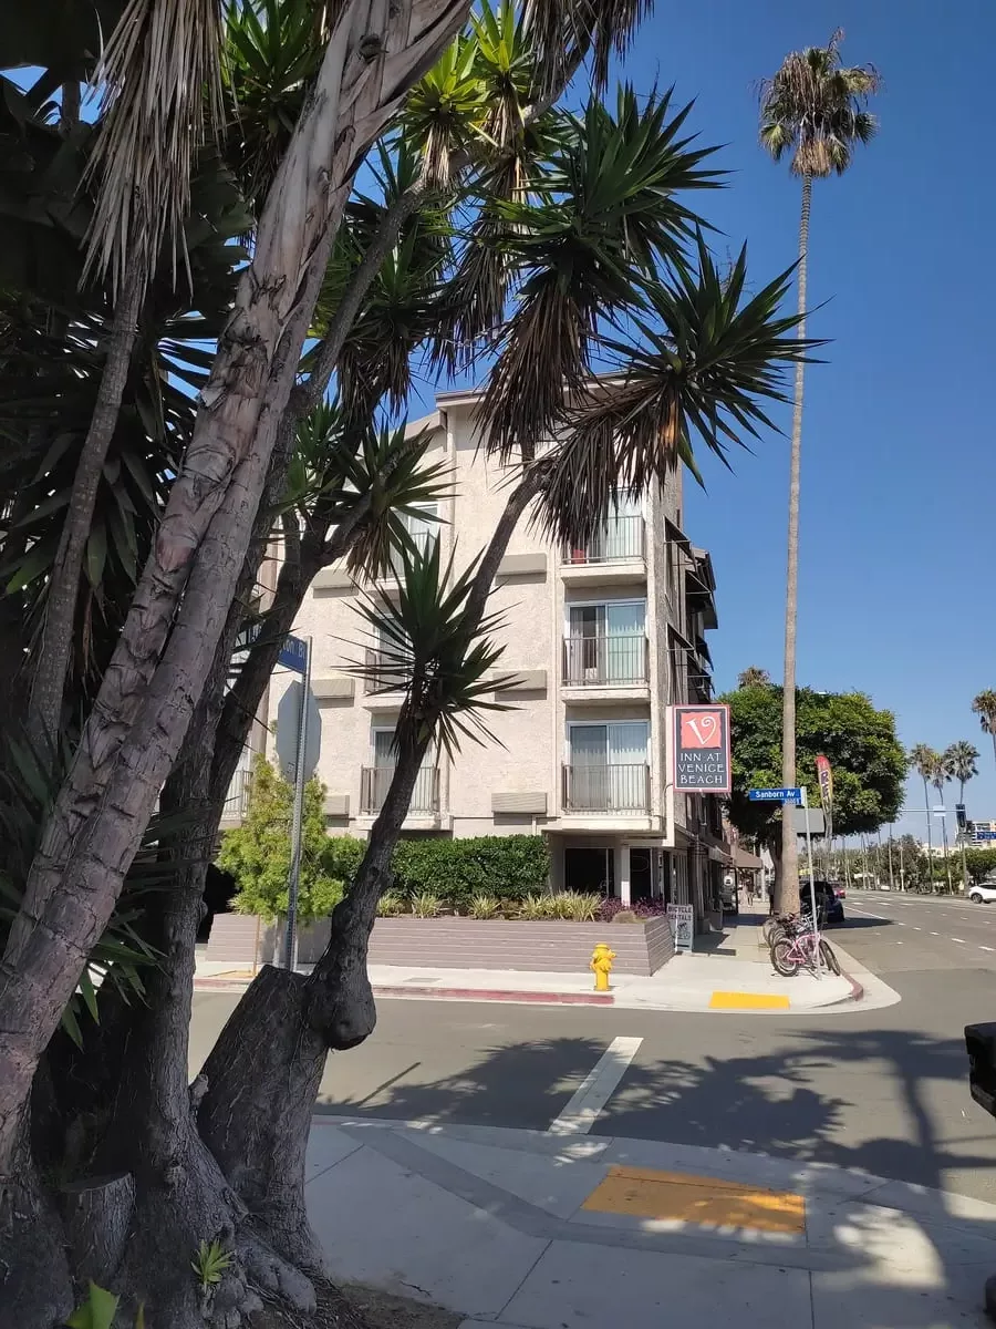
[[[0,962],[0,1172],[179,752],[243,566],[352,177],[466,0],[351,0],[267,199],[183,468]]]

